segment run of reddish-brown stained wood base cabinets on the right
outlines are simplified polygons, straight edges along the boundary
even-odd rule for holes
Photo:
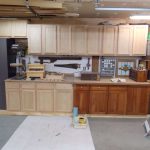
[[[81,114],[145,115],[148,113],[148,87],[75,85],[74,106]]]

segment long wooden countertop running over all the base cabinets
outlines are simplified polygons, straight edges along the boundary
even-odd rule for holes
[[[98,84],[98,85],[146,85],[150,86],[150,82],[136,82],[129,78],[126,79],[126,82],[112,82],[111,78],[100,78],[99,81],[95,80],[81,80],[80,78],[75,78],[73,76],[65,76],[62,81],[51,81],[47,79],[36,79],[36,80],[15,80],[13,78],[6,79],[6,82],[51,82],[51,83],[70,83],[70,84]]]

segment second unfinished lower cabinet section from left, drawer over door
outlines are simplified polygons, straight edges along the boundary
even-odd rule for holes
[[[35,83],[21,83],[21,110],[36,111]]]

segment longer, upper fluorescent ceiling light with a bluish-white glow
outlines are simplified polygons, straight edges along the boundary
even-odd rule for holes
[[[150,8],[96,7],[98,11],[150,11]]]

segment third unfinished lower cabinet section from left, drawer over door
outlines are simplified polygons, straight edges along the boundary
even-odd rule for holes
[[[37,83],[37,111],[53,112],[54,111],[54,84]]]

